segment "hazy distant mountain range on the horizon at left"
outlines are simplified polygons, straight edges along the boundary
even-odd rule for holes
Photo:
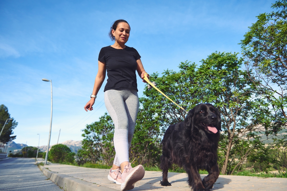
[[[82,148],[82,141],[67,140],[67,141],[61,142],[59,144],[67,145],[71,149],[71,151],[74,152],[74,153],[77,153],[77,151]],[[55,144],[53,144],[53,145],[55,145]],[[51,149],[51,146],[53,146],[53,145],[50,145],[50,149]],[[19,143],[15,143],[14,141],[12,141],[12,143],[10,143],[9,146],[8,146],[8,152],[9,151],[12,151],[12,152],[14,151],[14,153],[15,153],[15,152],[20,151],[22,148],[24,148],[26,146],[28,146],[28,145],[26,145],[26,144],[19,144]],[[34,146],[34,147],[37,148],[38,146]],[[46,152],[47,145],[39,146],[39,149],[42,152]]]

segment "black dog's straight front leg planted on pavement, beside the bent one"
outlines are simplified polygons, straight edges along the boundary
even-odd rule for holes
[[[209,191],[208,189],[204,188],[196,167],[187,164],[187,166],[185,166],[185,171],[188,175],[188,184],[194,191]]]

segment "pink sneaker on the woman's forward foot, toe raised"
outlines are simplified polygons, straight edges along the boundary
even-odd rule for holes
[[[125,165],[125,170],[121,177],[121,190],[131,190],[135,187],[135,182],[144,178],[144,167],[142,165],[137,165],[132,168],[131,163]]]

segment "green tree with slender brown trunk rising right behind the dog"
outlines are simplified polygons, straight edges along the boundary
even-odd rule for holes
[[[225,174],[228,169],[229,172],[234,172],[246,157],[257,153],[259,147],[263,149],[260,141],[248,140],[257,140],[259,135],[256,132],[259,131],[266,134],[276,132],[282,122],[274,119],[268,103],[258,97],[256,87],[248,78],[247,72],[240,69],[243,59],[238,58],[236,53],[215,52],[201,62],[202,65],[197,70],[201,100],[220,108],[222,116],[224,134],[219,151],[224,153],[224,162],[219,163],[221,173]],[[240,146],[249,149],[245,153],[232,151]],[[238,154],[241,155],[241,164],[230,163]]]

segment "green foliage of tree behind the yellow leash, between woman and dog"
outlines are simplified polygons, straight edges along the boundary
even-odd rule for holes
[[[192,109],[200,102],[199,94],[196,92],[196,65],[185,61],[181,62],[179,68],[181,69],[179,72],[165,70],[162,77],[154,73],[150,76],[150,80],[155,81],[158,88],[181,107],[186,110]],[[143,109],[150,113],[149,117],[154,119],[154,123],[160,124],[161,133],[164,134],[169,124],[178,123],[185,119],[185,111],[166,99],[156,89],[148,90],[146,88],[144,96],[141,99]]]

